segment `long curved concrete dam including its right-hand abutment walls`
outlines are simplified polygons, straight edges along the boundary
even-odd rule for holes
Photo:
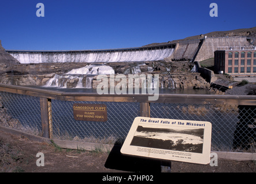
[[[110,63],[198,61],[214,57],[218,47],[250,46],[247,37],[204,37],[176,40],[172,43],[136,48],[81,50],[81,51],[18,51],[6,50],[21,64],[29,63]]]

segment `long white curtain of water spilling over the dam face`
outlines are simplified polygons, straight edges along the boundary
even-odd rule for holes
[[[19,52],[10,53],[20,63],[66,63],[66,62],[145,62],[163,60],[173,53],[173,48],[144,51],[115,52]]]

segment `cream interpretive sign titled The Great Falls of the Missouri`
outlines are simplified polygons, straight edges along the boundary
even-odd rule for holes
[[[136,117],[122,154],[208,164],[212,124],[207,121]]]

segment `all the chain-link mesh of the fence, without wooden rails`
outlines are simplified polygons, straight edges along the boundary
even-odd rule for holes
[[[1,92],[0,125],[42,136],[40,98]],[[107,98],[107,97],[106,97]],[[107,121],[77,121],[73,104],[104,104]],[[65,101],[51,99],[50,135],[54,139],[113,144],[124,140],[140,102]],[[224,104],[150,103],[150,117],[212,123],[212,151],[255,152],[256,106]]]

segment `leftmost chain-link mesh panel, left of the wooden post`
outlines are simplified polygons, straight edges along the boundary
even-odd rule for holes
[[[1,92],[0,124],[42,136],[39,97]]]

